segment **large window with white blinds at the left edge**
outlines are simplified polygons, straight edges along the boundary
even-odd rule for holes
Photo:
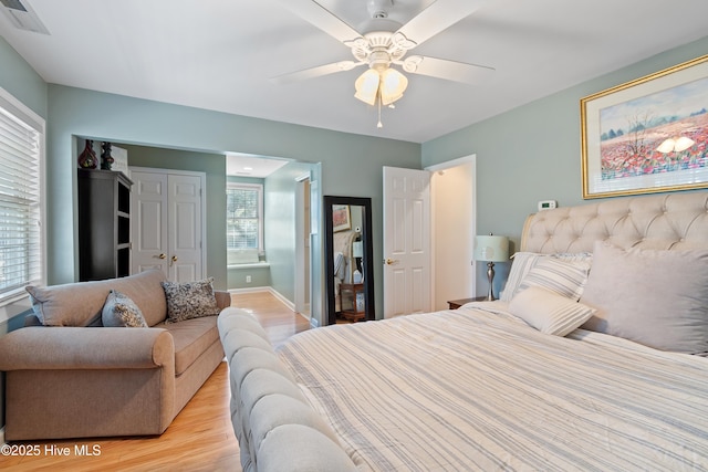
[[[44,120],[0,88],[0,306],[43,280]]]

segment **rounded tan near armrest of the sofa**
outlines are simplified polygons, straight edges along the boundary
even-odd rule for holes
[[[160,328],[32,326],[0,337],[0,370],[150,369],[171,366],[175,346]]]

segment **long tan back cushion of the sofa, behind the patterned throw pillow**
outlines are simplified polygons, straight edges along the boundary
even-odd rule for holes
[[[32,308],[45,326],[91,326],[101,324],[103,305],[111,290],[131,297],[154,326],[165,319],[167,305],[160,282],[162,271],[150,270],[122,279],[77,282],[46,287],[27,287]]]

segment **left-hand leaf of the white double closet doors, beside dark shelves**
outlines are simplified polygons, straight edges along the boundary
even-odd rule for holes
[[[167,175],[131,172],[131,273],[159,269],[167,275]]]

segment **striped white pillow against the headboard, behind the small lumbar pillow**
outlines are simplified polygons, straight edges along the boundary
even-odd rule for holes
[[[585,261],[568,262],[555,258],[539,260],[524,275],[518,295],[531,286],[540,286],[577,302],[587,282],[590,263]]]

